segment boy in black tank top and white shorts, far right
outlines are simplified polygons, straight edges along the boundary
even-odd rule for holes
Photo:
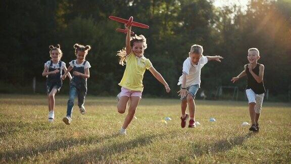
[[[265,87],[264,87],[264,65],[259,64],[258,60],[260,59],[260,52],[256,48],[251,48],[248,51],[248,60],[249,64],[245,65],[245,69],[238,76],[232,77],[231,81],[234,83],[239,78],[247,75],[248,85],[246,87],[246,94],[249,100],[249,110],[252,120],[252,126],[250,131],[258,132],[259,131],[259,118],[262,109],[263,99],[265,96]]]

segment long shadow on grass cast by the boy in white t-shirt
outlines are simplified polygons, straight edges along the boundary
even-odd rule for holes
[[[167,133],[169,134],[169,133]],[[90,162],[98,162],[100,160],[108,161],[110,160],[110,156],[117,153],[122,153],[124,151],[128,151],[130,149],[134,149],[136,147],[143,147],[146,145],[150,145],[153,143],[153,139],[165,136],[165,133],[155,134],[155,135],[141,135],[140,137],[134,138],[132,140],[128,140],[126,142],[113,143],[111,145],[105,145],[103,147],[87,151],[81,152],[79,154],[72,154],[62,161],[57,161],[61,163],[90,163]]]

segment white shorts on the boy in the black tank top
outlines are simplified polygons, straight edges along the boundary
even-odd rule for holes
[[[256,94],[252,89],[248,89],[248,90],[246,90],[246,94],[247,94],[247,97],[249,100],[249,104],[256,103],[255,112],[261,113],[265,93]]]

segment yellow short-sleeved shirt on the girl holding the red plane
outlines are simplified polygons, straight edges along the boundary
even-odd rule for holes
[[[133,52],[131,52],[126,57],[126,68],[123,73],[123,77],[118,85],[128,90],[142,92],[143,74],[146,69],[149,69],[152,66],[153,65],[150,59],[147,59],[144,56],[138,58],[133,54]]]

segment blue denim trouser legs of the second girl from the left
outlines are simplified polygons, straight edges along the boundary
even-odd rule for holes
[[[67,116],[68,117],[72,117],[74,100],[75,100],[76,95],[78,95],[79,108],[84,107],[86,90],[77,89],[75,86],[70,85],[69,100],[68,100],[68,107],[67,107]]]

